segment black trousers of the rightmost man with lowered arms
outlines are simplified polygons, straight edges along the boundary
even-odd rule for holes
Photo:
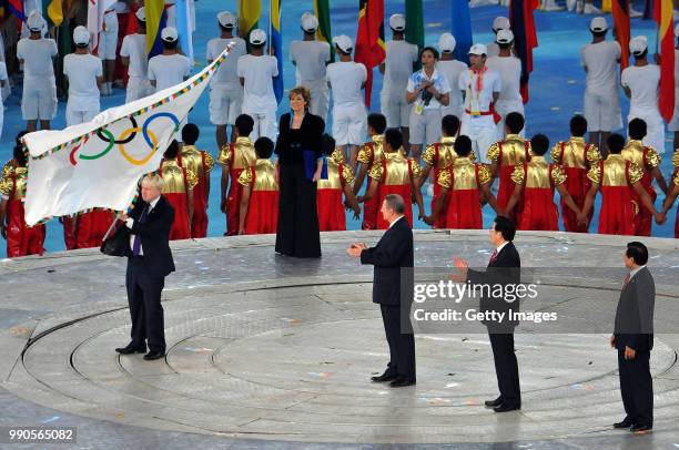
[[[618,346],[620,393],[627,419],[634,425],[653,425],[653,381],[650,375],[650,350],[637,351],[625,359],[625,346]]]

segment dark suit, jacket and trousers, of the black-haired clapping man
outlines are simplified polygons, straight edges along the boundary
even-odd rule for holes
[[[467,280],[473,285],[518,285],[521,279],[521,259],[513,243],[505,245],[495,259],[488,263],[486,272],[468,270]],[[484,321],[488,328],[495,374],[503,403],[511,407],[521,406],[518,362],[514,351],[514,328],[517,320],[508,315],[519,310],[518,300],[509,303],[504,298],[482,296],[480,311],[505,313],[503,320]]]

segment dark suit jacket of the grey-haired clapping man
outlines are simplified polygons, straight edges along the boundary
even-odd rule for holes
[[[361,253],[361,264],[375,266],[373,273],[373,301],[387,306],[401,306],[402,293],[406,301],[413,299],[413,231],[405,217],[387,229],[376,246]],[[402,268],[411,268],[403,270]]]

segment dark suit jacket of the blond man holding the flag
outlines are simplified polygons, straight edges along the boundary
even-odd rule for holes
[[[161,195],[155,207],[149,213],[146,221],[140,223],[139,219],[148,203],[136,202],[130,217],[134,219],[130,234],[141,236],[143,263],[153,277],[164,277],[174,272],[174,259],[170,250],[170,229],[174,222],[174,208]],[[126,226],[124,227],[128,228]],[[128,249],[128,256],[132,256],[132,248]]]

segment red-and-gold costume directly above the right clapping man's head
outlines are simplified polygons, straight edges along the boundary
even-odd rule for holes
[[[530,141],[523,139],[518,134],[507,134],[504,141],[496,142],[488,149],[488,160],[497,166],[499,173],[499,187],[497,190],[497,206],[499,209],[507,207],[507,202],[514,192],[511,174],[517,165],[530,160]],[[511,219],[515,224],[519,223],[523,198],[511,211]]]

